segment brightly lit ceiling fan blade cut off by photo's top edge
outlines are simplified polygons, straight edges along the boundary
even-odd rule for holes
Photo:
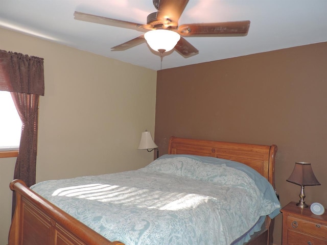
[[[189,0],[154,0],[153,2],[157,2],[158,4],[157,19],[162,20],[168,18],[171,21],[168,25],[177,27],[179,17],[183,13]]]

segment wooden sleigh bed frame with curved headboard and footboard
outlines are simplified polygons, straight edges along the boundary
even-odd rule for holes
[[[169,154],[211,156],[238,161],[257,170],[274,186],[276,145],[255,145],[171,137]],[[54,206],[21,180],[13,180],[17,204],[10,226],[9,245],[124,245],[109,241],[77,219]],[[248,245],[272,244],[273,220],[268,216],[262,231]]]

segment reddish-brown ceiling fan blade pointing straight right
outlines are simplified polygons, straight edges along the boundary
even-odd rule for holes
[[[178,27],[178,33],[183,37],[246,36],[249,28],[249,20],[220,23],[195,23],[182,24]]]

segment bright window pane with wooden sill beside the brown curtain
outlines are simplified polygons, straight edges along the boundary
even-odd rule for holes
[[[20,142],[21,120],[10,92],[0,91],[0,157],[15,156],[8,151],[17,152]]]

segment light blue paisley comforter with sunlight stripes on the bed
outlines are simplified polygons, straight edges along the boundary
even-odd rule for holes
[[[251,168],[188,155],[31,188],[107,239],[127,245],[227,245],[280,208],[272,186]]]

